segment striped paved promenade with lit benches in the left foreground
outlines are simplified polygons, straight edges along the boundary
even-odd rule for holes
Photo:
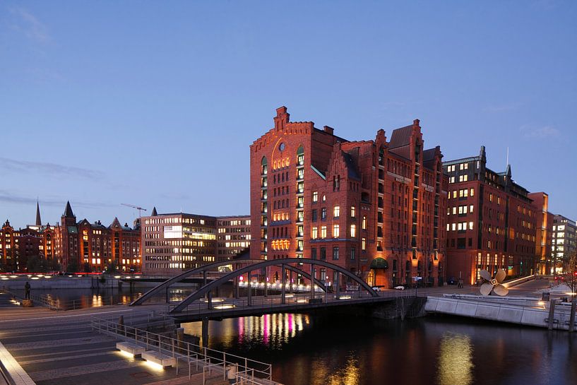
[[[90,316],[112,319],[124,314],[126,319],[129,314],[150,311],[146,307],[114,305],[54,312],[25,309],[10,300],[8,294],[0,293],[0,342],[38,385],[202,383],[202,374],[189,381],[187,375],[177,378],[174,368],[157,369],[126,357],[116,350],[117,340],[90,328]]]

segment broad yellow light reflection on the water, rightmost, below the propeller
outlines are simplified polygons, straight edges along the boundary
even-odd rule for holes
[[[439,344],[439,385],[472,384],[471,339],[463,334],[445,333]]]

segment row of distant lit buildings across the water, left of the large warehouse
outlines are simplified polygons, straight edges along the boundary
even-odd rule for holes
[[[133,227],[114,218],[76,220],[70,203],[56,225],[36,223],[0,229],[0,271],[81,271],[174,275],[202,263],[232,259],[249,247],[249,215],[210,217],[186,213],[157,214],[135,220]],[[141,226],[143,223],[143,226]],[[143,245],[141,247],[141,245]]]

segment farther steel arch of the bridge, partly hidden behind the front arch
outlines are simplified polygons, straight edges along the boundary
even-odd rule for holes
[[[194,276],[196,274],[200,274],[200,273],[203,274],[203,286],[204,286],[208,282],[206,274],[208,273],[208,271],[212,271],[215,268],[218,268],[220,266],[235,265],[235,264],[237,264],[237,265],[238,264],[240,264],[240,265],[253,264],[254,265],[254,264],[261,263],[261,262],[262,262],[261,259],[237,259],[234,261],[220,261],[220,262],[215,262],[215,263],[209,263],[209,264],[201,266],[199,268],[193,268],[189,271],[184,271],[184,273],[181,273],[178,276],[174,276],[172,278],[169,278],[168,280],[165,280],[165,282],[160,283],[160,285],[157,285],[154,288],[148,290],[148,292],[145,292],[143,295],[141,295],[141,297],[138,297],[138,299],[131,302],[131,304],[129,304],[129,306],[136,306],[136,305],[143,304],[146,300],[150,300],[150,298],[152,298],[154,295],[157,295],[162,290],[167,290],[167,288],[169,288],[169,286],[174,285],[175,283],[182,282],[186,278],[189,278],[189,277]],[[311,275],[309,273],[307,273],[306,271],[303,271],[302,269],[299,269],[299,268],[296,268],[295,266],[290,266],[290,265],[287,265],[285,267],[290,271],[293,271],[295,273],[300,274],[301,276],[303,276],[307,280],[311,279]],[[256,268],[254,268],[254,270],[257,270],[259,268],[262,268],[262,266],[256,267]],[[254,271],[254,270],[251,270],[251,271]],[[229,278],[229,280],[230,280],[230,278]],[[315,278],[314,283],[319,288],[321,288],[323,291],[326,292],[326,286],[323,282],[321,282],[321,280],[318,280]]]

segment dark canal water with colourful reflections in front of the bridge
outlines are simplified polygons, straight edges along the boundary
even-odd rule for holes
[[[201,323],[183,324],[201,337]],[[273,364],[285,385],[577,384],[577,337],[441,316],[270,314],[210,321],[208,347]]]

